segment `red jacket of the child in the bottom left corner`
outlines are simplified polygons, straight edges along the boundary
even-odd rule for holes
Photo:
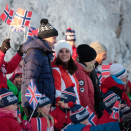
[[[0,131],[24,131],[21,124],[9,114],[0,112]]]

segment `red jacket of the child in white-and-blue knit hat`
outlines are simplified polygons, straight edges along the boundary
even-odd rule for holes
[[[110,88],[113,87],[113,86],[116,86],[116,87],[120,88],[120,89],[123,91],[121,99],[122,99],[122,100],[125,100],[126,103],[127,103],[127,105],[130,106],[130,99],[129,99],[129,97],[127,96],[127,94],[124,92],[124,85],[116,83],[111,76],[107,77],[107,78],[102,82],[102,84],[101,84],[101,90],[102,90],[103,88],[106,88],[106,89],[108,90],[108,89],[110,89]],[[116,94],[117,94],[117,93],[116,93]]]

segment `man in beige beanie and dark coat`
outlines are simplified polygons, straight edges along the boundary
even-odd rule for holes
[[[102,116],[102,109],[100,106],[101,103],[101,92],[100,92],[100,86],[101,81],[98,79],[102,77],[101,72],[97,69],[98,65],[102,65],[103,61],[107,59],[107,48],[105,45],[101,44],[100,42],[93,42],[90,44],[92,48],[95,49],[97,53],[96,57],[96,63],[95,63],[95,69],[90,73],[90,78],[94,85],[94,99],[95,99],[95,111],[97,113],[98,118]]]

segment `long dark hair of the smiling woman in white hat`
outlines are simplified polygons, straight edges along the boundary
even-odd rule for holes
[[[62,65],[63,68],[65,70],[68,70],[68,72],[71,75],[73,75],[77,71],[77,69],[78,69],[78,66],[75,64],[75,62],[72,59],[72,57],[70,57],[70,60],[67,63],[63,62],[59,57],[57,57],[55,59],[55,65],[57,65],[57,66]]]

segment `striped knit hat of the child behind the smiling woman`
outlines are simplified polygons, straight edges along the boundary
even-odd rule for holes
[[[75,31],[72,30],[71,28],[68,28],[68,29],[66,30],[65,40],[66,40],[66,41],[76,41]]]

